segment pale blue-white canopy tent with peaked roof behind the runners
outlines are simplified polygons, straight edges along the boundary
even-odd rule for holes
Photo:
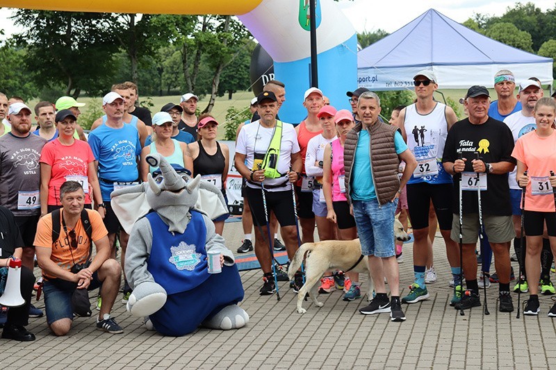
[[[553,59],[509,47],[471,31],[434,9],[357,53],[358,84],[373,91],[413,90],[413,76],[432,69],[441,89],[493,87],[509,69],[516,84],[534,76],[553,84]]]

